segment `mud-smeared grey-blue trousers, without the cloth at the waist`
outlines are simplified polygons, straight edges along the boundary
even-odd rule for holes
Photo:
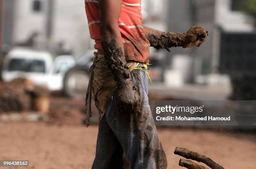
[[[99,124],[92,169],[166,169],[166,155],[148,104],[147,70],[131,72],[141,96],[141,113],[119,114],[110,99]]]

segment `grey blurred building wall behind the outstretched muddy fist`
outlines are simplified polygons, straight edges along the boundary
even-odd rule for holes
[[[212,45],[215,26],[215,0],[170,0],[168,30],[186,32],[191,26],[200,25],[209,31],[207,41],[200,48],[174,48],[169,56],[190,55],[202,60],[202,72],[212,71]],[[171,62],[171,61],[170,61]]]

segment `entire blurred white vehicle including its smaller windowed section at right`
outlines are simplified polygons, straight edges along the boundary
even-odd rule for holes
[[[5,57],[2,77],[4,82],[24,77],[35,85],[61,90],[64,73],[73,65],[74,58],[69,55],[53,60],[49,52],[17,47]]]

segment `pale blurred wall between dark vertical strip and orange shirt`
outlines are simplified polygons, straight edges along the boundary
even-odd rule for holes
[[[52,41],[78,56],[93,48],[83,0],[55,0]]]

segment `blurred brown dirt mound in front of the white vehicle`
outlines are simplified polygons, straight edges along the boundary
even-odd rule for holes
[[[50,124],[82,124],[84,100],[55,93],[22,78],[0,82],[0,114],[41,112]]]

